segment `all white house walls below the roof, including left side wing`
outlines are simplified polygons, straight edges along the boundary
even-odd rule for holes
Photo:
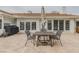
[[[7,17],[0,17],[0,19],[2,19],[2,29],[0,29],[0,34],[3,33],[4,31],[4,23],[10,23],[10,24],[15,24],[19,27],[19,31],[24,33],[25,30],[26,30],[26,22],[36,22],[36,30],[30,30],[32,33],[33,32],[36,32],[36,31],[40,31],[41,29],[41,22],[40,22],[40,19],[39,18],[17,18],[17,20],[15,21],[14,18],[7,18]],[[47,28],[47,21],[48,20],[51,20],[52,22],[52,30],[48,30]],[[52,18],[48,18],[46,19],[46,26],[45,28],[47,29],[47,31],[54,31],[53,30],[53,20],[55,19],[52,19]],[[60,20],[60,19],[58,19]],[[63,19],[64,20],[64,23],[65,23],[65,20],[70,20],[70,19]],[[24,30],[20,30],[20,22],[24,22]],[[65,30],[65,24],[64,24],[64,33],[74,33],[75,32],[75,27],[76,27],[76,23],[74,21],[74,19],[71,19],[70,20],[70,30]],[[55,31],[54,31],[55,32]]]

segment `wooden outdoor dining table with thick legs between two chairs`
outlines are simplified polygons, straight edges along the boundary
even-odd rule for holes
[[[51,42],[51,46],[53,46],[53,44],[54,44],[54,42],[52,42],[52,39],[50,39],[50,36],[53,36],[53,35],[55,35],[55,33],[54,32],[35,32],[34,33],[34,35],[36,36],[36,46],[38,46],[38,40],[39,40],[39,37],[40,36],[42,36],[42,37],[44,37],[44,39],[43,39],[43,41],[44,42],[46,42],[46,40],[45,40],[45,37],[49,37],[49,41]]]

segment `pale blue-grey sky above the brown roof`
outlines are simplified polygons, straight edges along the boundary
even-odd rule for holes
[[[45,12],[62,11],[62,6],[44,6],[44,7]],[[0,9],[11,13],[13,12],[26,13],[29,10],[32,12],[41,12],[41,6],[0,6]],[[65,12],[79,14],[79,6],[65,6]]]

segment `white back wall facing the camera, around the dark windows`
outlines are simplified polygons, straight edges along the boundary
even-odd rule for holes
[[[52,30],[48,30],[48,28],[47,28],[47,22],[48,22],[48,20],[51,20],[51,22],[52,22]],[[45,28],[47,29],[47,31],[54,31],[53,30],[53,22],[54,22],[54,20],[55,19],[52,19],[52,18],[48,18],[48,19],[46,19],[46,26],[45,26]],[[75,32],[75,21],[74,21],[74,19],[58,19],[58,20],[64,20],[64,33],[74,33]],[[66,20],[69,20],[70,21],[70,30],[66,30],[65,29],[65,21]],[[24,22],[24,30],[20,30],[20,22]],[[40,31],[40,29],[41,29],[41,22],[40,22],[40,19],[32,19],[32,18],[25,18],[25,19],[22,19],[22,18],[18,18],[17,19],[17,26],[19,27],[19,31],[20,32],[24,32],[25,30],[26,30],[26,22],[36,22],[36,30],[30,30],[31,32],[35,32],[35,31]],[[56,32],[56,31],[54,31],[54,32]]]

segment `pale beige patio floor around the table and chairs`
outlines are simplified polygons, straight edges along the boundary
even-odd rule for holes
[[[59,43],[55,43],[53,47],[51,46],[38,46],[35,47],[28,41],[27,46],[25,47],[26,34],[18,33],[9,37],[0,38],[0,52],[8,53],[26,53],[26,52],[38,52],[38,53],[47,53],[47,52],[79,52],[79,34],[74,33],[65,33],[61,36],[61,41],[63,47]]]

